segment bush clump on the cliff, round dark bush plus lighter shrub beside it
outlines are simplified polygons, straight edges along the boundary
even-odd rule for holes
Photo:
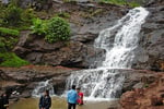
[[[44,35],[48,43],[68,40],[70,36],[69,23],[59,16],[52,17],[49,21],[35,19],[31,28],[33,34]]]

